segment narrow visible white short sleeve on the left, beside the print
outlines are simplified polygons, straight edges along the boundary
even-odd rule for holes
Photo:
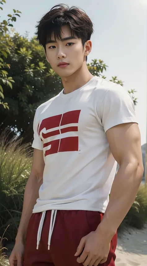
[[[33,121],[34,139],[32,143],[32,148],[43,150],[43,143],[38,135],[38,125],[39,125],[39,120],[37,119],[37,110],[36,110]]]

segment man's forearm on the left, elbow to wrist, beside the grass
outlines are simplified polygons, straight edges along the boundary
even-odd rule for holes
[[[29,219],[33,212],[33,207],[39,197],[39,188],[42,180],[35,176],[30,176],[24,191],[23,211],[21,215],[20,225],[18,228],[16,242],[25,242]]]

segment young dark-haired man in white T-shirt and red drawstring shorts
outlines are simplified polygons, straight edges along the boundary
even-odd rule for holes
[[[65,5],[38,24],[64,89],[36,110],[11,266],[115,265],[117,228],[143,175],[140,131],[129,93],[87,69],[92,32],[90,18]]]

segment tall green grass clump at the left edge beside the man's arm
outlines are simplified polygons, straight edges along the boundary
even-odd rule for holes
[[[30,145],[20,144],[16,138],[8,141],[7,131],[0,137],[0,232],[2,236],[10,225],[8,241],[15,241],[32,160]]]

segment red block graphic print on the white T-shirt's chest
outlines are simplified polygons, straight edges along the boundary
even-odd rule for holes
[[[79,115],[81,110],[69,111],[65,114],[58,114],[55,116],[43,119],[40,126],[38,124],[38,135],[43,128],[50,130],[47,133],[41,134],[42,138],[45,140],[49,137],[59,135],[59,139],[55,139],[49,142],[44,142],[43,148],[50,146],[49,150],[45,151],[45,156],[57,152],[72,152],[78,151],[78,136],[60,138],[62,133],[66,132],[76,132],[78,131],[78,126],[74,125],[78,123]],[[68,126],[70,124],[70,126]],[[71,125],[73,124],[73,125]],[[64,127],[67,125],[67,127]],[[54,130],[54,128],[56,128]]]

